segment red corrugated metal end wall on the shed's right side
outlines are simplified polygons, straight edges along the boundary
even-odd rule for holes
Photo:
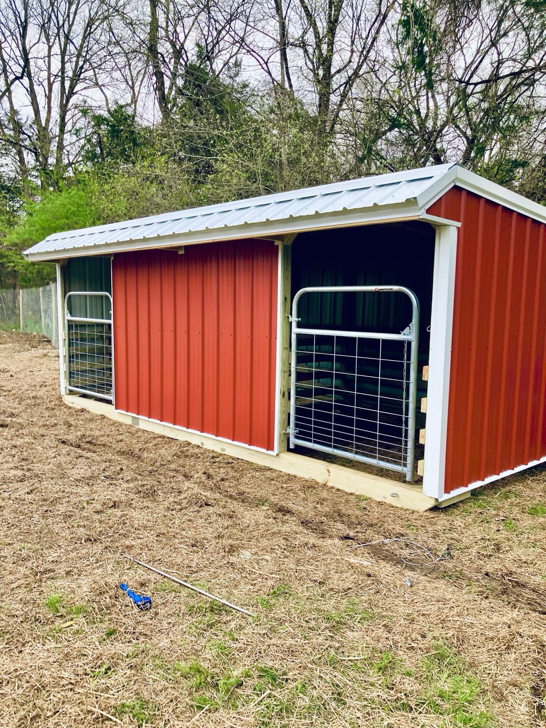
[[[461,189],[445,491],[546,455],[546,225]]]

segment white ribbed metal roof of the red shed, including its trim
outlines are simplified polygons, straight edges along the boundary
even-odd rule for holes
[[[437,165],[347,182],[194,207],[164,215],[49,235],[25,250],[31,261],[267,237],[387,220],[426,218],[454,184],[541,221],[546,208],[460,165]]]

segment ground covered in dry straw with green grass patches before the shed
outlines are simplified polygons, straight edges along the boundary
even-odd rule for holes
[[[538,727],[545,486],[351,496],[68,408],[50,344],[0,333],[0,726]],[[400,536],[452,558],[349,548]]]

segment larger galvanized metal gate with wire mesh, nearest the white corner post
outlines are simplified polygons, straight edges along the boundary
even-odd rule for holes
[[[299,328],[309,293],[403,293],[412,316],[401,333]],[[414,479],[419,302],[403,286],[298,290],[292,306],[290,448],[367,462]]]

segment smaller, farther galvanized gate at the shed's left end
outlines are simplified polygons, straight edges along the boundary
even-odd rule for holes
[[[85,296],[82,300],[81,297]],[[92,306],[90,297],[98,305]],[[71,314],[71,303],[82,300],[86,315]],[[87,315],[92,310],[97,317]],[[93,310],[94,309],[94,310]],[[100,315],[102,314],[102,315]],[[66,389],[114,401],[112,363],[112,298],[109,293],[72,291],[65,297]]]

